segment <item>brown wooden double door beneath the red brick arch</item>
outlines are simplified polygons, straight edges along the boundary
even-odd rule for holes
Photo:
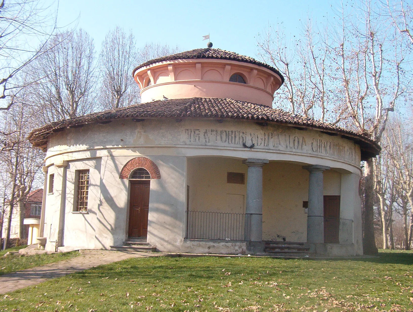
[[[146,237],[148,234],[150,180],[131,181],[129,200],[129,237]]]

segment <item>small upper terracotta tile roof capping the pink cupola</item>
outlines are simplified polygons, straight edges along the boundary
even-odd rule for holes
[[[158,57],[157,59],[150,60],[143,64],[140,64],[138,67],[133,69],[132,75],[134,75],[135,71],[137,71],[138,69],[145,67],[147,65],[150,65],[150,64],[154,64],[154,63],[162,62],[162,61],[185,60],[185,59],[218,59],[218,60],[231,60],[231,61],[254,64],[254,65],[265,67],[273,71],[275,74],[280,76],[281,82],[284,83],[284,77],[282,76],[282,74],[277,69],[275,69],[274,67],[271,67],[268,64],[259,62],[249,56],[244,56],[244,55],[237,54],[235,52],[225,51],[221,49],[213,49],[213,48],[194,49],[194,50],[180,52],[180,53],[173,54],[173,55],[166,55],[163,57]]]

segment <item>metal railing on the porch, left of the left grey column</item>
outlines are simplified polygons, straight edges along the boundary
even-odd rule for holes
[[[243,213],[187,211],[186,218],[186,238],[244,240]]]

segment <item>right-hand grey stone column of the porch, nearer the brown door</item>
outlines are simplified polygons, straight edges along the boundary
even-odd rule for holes
[[[307,243],[324,243],[323,172],[327,166],[303,166],[310,172],[309,209],[307,214]]]

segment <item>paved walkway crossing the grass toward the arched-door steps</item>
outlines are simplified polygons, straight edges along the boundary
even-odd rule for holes
[[[42,283],[48,279],[64,276],[98,265],[128,258],[157,257],[161,252],[127,252],[111,250],[81,250],[81,255],[68,260],[45,264],[0,276],[0,294]]]

